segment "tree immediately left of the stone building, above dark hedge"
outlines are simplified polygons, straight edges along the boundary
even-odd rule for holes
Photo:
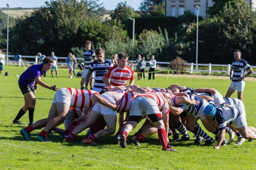
[[[164,0],[142,0],[140,11],[143,16],[164,16]]]

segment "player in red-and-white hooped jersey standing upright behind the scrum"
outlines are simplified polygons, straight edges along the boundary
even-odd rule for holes
[[[106,86],[126,86],[128,80],[130,80],[130,86],[134,85],[133,70],[127,66],[128,58],[129,55],[126,53],[118,54],[118,64],[110,67],[102,78]]]

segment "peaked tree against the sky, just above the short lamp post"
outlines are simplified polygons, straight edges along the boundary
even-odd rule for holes
[[[136,17],[140,17],[140,14],[138,14],[137,12],[134,11],[134,9],[128,5],[126,5],[126,1],[125,2],[120,2],[117,4],[114,12],[112,12],[110,14],[110,17],[113,20],[127,20],[127,18],[131,17],[131,18],[136,18]]]

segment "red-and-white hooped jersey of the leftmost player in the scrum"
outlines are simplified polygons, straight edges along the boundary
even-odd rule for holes
[[[93,90],[80,90],[76,88],[67,88],[67,89],[71,94],[70,107],[76,107],[76,108],[92,107],[92,105],[95,103],[95,101],[92,100],[92,96],[94,94],[100,96],[98,92]]]

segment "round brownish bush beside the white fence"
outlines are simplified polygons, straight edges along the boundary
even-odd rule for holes
[[[183,60],[182,58],[180,58],[179,56],[176,57],[176,59],[170,61],[169,67],[174,70],[174,74],[180,74],[182,73],[181,71],[185,71],[187,66],[187,61]],[[181,71],[177,71],[177,70],[181,70]]]

